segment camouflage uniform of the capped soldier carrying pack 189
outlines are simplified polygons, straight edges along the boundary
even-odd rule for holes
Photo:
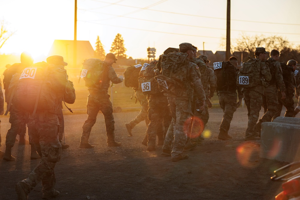
[[[260,73],[265,81],[271,80],[269,67],[261,62]],[[244,100],[248,110],[248,126],[246,129],[245,138],[256,136],[256,122],[259,118],[259,111],[262,107],[262,95],[264,94],[264,86],[262,83],[251,88],[243,88]]]

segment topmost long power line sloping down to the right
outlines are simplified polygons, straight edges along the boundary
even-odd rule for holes
[[[99,1],[99,0],[90,0],[90,1],[97,1],[97,2],[106,3],[106,4],[113,4],[113,3],[108,3],[108,2],[105,2],[105,1]],[[151,10],[151,11],[162,12],[162,13],[171,13],[171,14],[178,14],[178,15],[185,15],[185,16],[194,16],[194,17],[203,17],[203,18],[210,18],[210,19],[226,20],[225,18],[220,18],[220,17],[208,17],[208,16],[193,15],[193,14],[176,13],[176,12],[169,12],[169,11],[164,11],[164,10],[154,10],[154,9],[149,9],[149,8],[141,8],[141,7],[135,7],[135,6],[116,4],[116,3],[114,3],[114,5],[137,8],[137,9],[142,9],[142,10]],[[264,24],[297,25],[297,26],[300,25],[300,24],[275,23],[275,22],[259,22],[259,21],[250,21],[250,20],[241,20],[241,19],[231,19],[231,20],[232,21],[239,21],[239,22],[254,22],[254,23],[264,23]]]

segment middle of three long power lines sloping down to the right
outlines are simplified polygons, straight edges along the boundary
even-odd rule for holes
[[[171,22],[162,22],[162,21],[154,21],[154,20],[149,20],[149,19],[139,19],[139,18],[135,18],[135,17],[127,17],[127,16],[121,16],[121,15],[113,15],[113,14],[108,14],[108,13],[101,13],[101,12],[96,12],[96,11],[89,11],[89,10],[85,10],[85,9],[78,9],[78,10],[84,10],[84,11],[87,11],[87,12],[98,13],[98,14],[104,14],[104,15],[110,15],[110,16],[116,16],[116,17],[124,17],[124,18],[128,18],[128,19],[137,19],[137,20],[148,21],[148,22],[156,22],[156,23],[163,23],[163,24],[188,26],[188,27],[195,27],[195,28],[208,28],[208,29],[216,29],[216,30],[226,30],[226,28],[212,28],[212,27],[195,26],[195,25],[187,25],[187,24],[177,24],[177,23],[171,23]],[[108,18],[108,19],[111,19],[111,18]],[[105,19],[105,20],[107,20],[107,19]],[[90,20],[90,21],[101,21],[101,20]],[[90,22],[90,21],[89,21],[89,22]],[[243,31],[243,32],[253,32],[253,33],[270,33],[270,34],[291,34],[291,35],[300,35],[299,33],[273,33],[273,32],[263,32],[263,31],[234,30],[234,29],[231,29],[231,31]]]

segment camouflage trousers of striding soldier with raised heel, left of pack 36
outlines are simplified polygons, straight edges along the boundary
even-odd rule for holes
[[[137,90],[136,93],[135,93],[136,97],[137,97],[137,100],[140,102],[141,106],[142,106],[142,109],[140,111],[140,113],[133,119],[129,122],[131,128],[134,128],[137,124],[139,124],[141,121],[144,121],[146,122],[146,125],[148,126],[149,124],[149,119],[148,119],[148,109],[149,109],[149,106],[148,106],[148,100],[147,100],[147,96],[145,96],[143,94],[143,92]]]

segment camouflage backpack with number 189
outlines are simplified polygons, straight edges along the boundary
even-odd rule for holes
[[[252,58],[242,64],[236,79],[236,85],[251,88],[261,83],[261,65],[259,58]]]

